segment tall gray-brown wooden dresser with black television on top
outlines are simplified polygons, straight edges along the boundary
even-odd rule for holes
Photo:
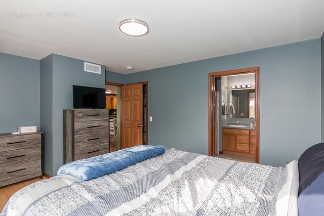
[[[64,163],[109,153],[109,110],[64,110]]]

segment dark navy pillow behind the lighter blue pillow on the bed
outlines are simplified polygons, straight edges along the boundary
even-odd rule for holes
[[[324,143],[308,148],[298,159],[299,192],[310,186],[324,172]]]

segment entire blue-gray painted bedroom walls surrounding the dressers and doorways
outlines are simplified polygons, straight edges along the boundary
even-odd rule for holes
[[[323,49],[324,34],[129,75],[104,66],[100,75],[87,73],[84,61],[55,54],[38,61],[0,53],[0,133],[36,125],[45,132],[45,172],[56,175],[63,164],[63,109],[72,108],[72,85],[148,81],[149,143],[208,154],[208,73],[260,66],[260,162],[284,165],[324,141]]]

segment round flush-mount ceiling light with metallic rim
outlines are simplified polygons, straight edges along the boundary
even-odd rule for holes
[[[130,36],[144,36],[148,34],[148,25],[137,19],[126,19],[119,23],[119,30]]]

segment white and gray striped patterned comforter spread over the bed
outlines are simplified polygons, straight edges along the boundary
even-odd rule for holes
[[[90,181],[61,175],[33,183],[1,215],[296,214],[296,167],[297,161],[271,167],[168,149]]]

